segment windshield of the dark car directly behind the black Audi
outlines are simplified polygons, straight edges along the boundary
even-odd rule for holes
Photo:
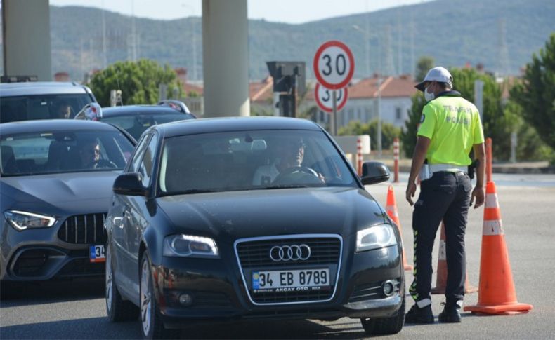
[[[179,112],[168,114],[138,114],[130,112],[127,116],[103,117],[102,121],[119,126],[119,128],[126,130],[129,132],[129,135],[138,140],[143,132],[152,125],[169,123],[171,121],[183,121],[192,118],[193,116],[190,114],[182,114]]]

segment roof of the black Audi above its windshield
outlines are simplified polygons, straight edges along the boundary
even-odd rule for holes
[[[200,118],[152,125],[165,137],[195,135],[197,133],[241,130],[322,130],[313,121],[287,117],[223,117]]]

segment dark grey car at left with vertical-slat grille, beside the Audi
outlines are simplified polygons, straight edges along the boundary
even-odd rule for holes
[[[126,132],[92,121],[0,124],[4,288],[13,281],[103,276],[103,222],[133,143]]]

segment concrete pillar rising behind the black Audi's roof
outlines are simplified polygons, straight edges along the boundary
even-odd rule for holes
[[[250,116],[247,0],[202,0],[204,116]]]

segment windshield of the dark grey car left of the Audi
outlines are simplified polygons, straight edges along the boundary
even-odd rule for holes
[[[117,131],[68,130],[2,135],[2,176],[122,170],[133,144]]]

